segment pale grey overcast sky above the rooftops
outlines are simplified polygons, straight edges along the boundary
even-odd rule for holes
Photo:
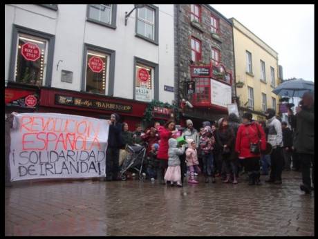
[[[315,81],[314,5],[211,4],[234,17],[279,53],[283,78]]]

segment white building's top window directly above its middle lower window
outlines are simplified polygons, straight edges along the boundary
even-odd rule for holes
[[[111,25],[113,4],[89,4],[88,18]]]

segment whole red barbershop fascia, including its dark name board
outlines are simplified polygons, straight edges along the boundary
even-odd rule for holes
[[[107,120],[112,113],[118,113],[120,121],[127,122],[129,131],[134,131],[135,125],[142,122],[146,107],[147,103],[133,99],[43,87],[40,90],[37,112],[82,115]]]

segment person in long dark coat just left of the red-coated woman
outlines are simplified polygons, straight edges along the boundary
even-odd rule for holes
[[[218,146],[220,151],[221,162],[222,162],[222,172],[226,173],[226,178],[223,182],[231,182],[233,178],[233,183],[236,184],[237,166],[234,162],[236,158],[235,153],[235,143],[234,143],[234,131],[229,127],[227,117],[223,117],[218,131],[216,131],[216,138],[218,139]]]

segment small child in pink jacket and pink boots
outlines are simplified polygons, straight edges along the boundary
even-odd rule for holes
[[[185,162],[187,162],[187,167],[190,172],[190,177],[188,183],[197,184],[198,181],[194,179],[194,172],[200,173],[200,168],[198,166],[198,153],[196,151],[196,142],[192,139],[187,139],[188,149],[185,151]]]

